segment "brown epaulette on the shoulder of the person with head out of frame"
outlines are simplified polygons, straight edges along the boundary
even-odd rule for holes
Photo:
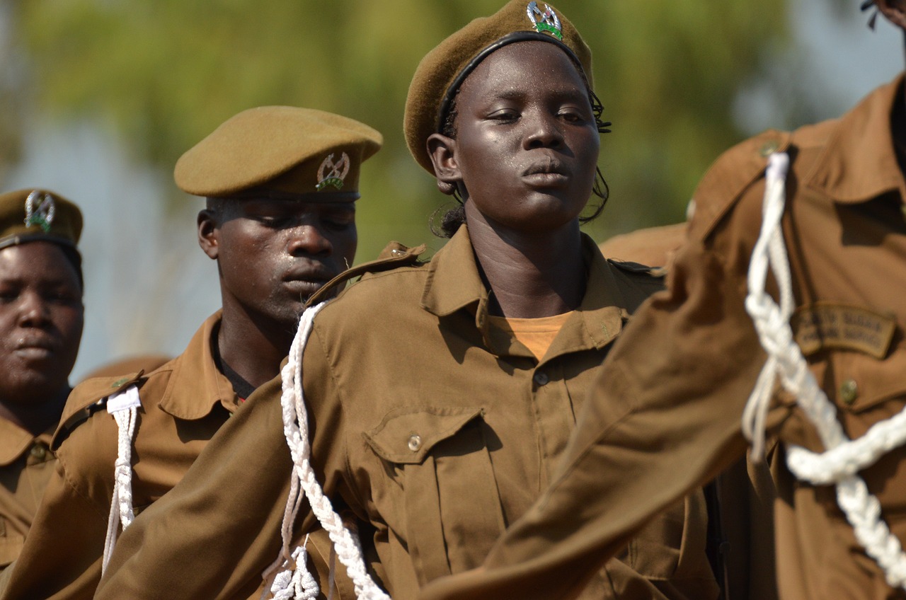
[[[788,131],[768,130],[740,142],[715,160],[692,196],[689,238],[704,240],[718,221],[758,179],[767,167],[767,157],[789,148]]]

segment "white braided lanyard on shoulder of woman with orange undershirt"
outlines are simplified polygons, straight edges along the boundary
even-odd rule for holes
[[[371,580],[371,576],[368,575],[365,561],[361,556],[361,546],[358,538],[343,525],[342,518],[333,510],[330,499],[324,496],[323,489],[321,489],[321,485],[314,476],[310,462],[311,446],[308,439],[308,413],[305,411],[305,399],[302,389],[302,355],[305,344],[312,334],[314,316],[321,311],[324,304],[314,305],[303,313],[302,318],[299,320],[299,329],[295,334],[293,345],[289,351],[289,360],[285,364],[282,373],[280,373],[283,379],[283,394],[280,398],[280,404],[283,408],[284,435],[286,436],[286,444],[289,446],[290,454],[293,456],[294,468],[292,479],[290,480],[289,498],[286,499],[283,527],[281,527],[283,548],[274,564],[265,571],[264,577],[266,581],[272,574],[277,573],[270,592],[274,594],[275,598],[280,598],[280,600],[293,597],[313,597],[306,595],[311,593],[311,585],[313,585],[314,594],[317,594],[317,583],[308,574],[308,569],[305,565],[304,547],[296,548],[293,552],[289,550],[293,537],[293,524],[299,512],[299,507],[307,496],[314,516],[318,518],[321,527],[330,536],[333,547],[336,549],[337,557],[343,566],[346,567],[346,572],[352,579],[356,597],[362,600],[390,600],[390,596],[385,594]],[[298,421],[298,425],[296,421]],[[299,572],[304,572],[305,575],[300,576]],[[290,574],[288,577],[286,576],[287,573]],[[301,585],[297,591],[295,585],[290,584],[291,581],[307,582],[309,586]]]

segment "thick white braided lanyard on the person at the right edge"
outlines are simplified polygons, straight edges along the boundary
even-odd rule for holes
[[[900,540],[881,518],[881,503],[872,496],[860,469],[871,466],[884,453],[906,443],[906,409],[876,423],[858,440],[849,440],[836,418],[836,408],[814,380],[805,357],[795,344],[789,317],[793,313],[793,285],[780,221],[786,200],[786,154],[772,154],[766,171],[764,220],[748,269],[746,310],[755,322],[767,361],[743,413],[742,431],[752,441],[752,453],[764,452],[765,419],[774,382],[779,376],[787,391],[814,423],[827,449],[814,453],[787,445],[786,465],[799,479],[813,485],[836,484],[837,503],[853,526],[855,537],[882,567],[887,583],[906,587],[906,555]],[[765,292],[767,267],[780,289],[780,305]]]

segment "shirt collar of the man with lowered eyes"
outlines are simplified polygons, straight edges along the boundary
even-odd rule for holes
[[[160,399],[160,408],[177,419],[201,419],[218,403],[227,411],[236,410],[236,392],[217,369],[211,350],[213,336],[217,334],[222,318],[222,311],[207,317],[185,352],[172,363],[173,374]]]

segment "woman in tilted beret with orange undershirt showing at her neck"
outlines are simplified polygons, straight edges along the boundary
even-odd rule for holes
[[[313,473],[366,527],[372,575],[397,600],[477,566],[548,485],[613,340],[661,287],[579,229],[604,127],[590,61],[563,15],[525,0],[429,53],[406,134],[439,189],[462,198],[444,219],[452,238],[425,264],[400,250],[408,265],[374,266],[313,320],[301,364]],[[278,556],[290,487],[280,397],[280,380],[256,392],[125,532],[98,598],[254,589]],[[297,533],[318,523],[303,506]],[[680,501],[588,597],[715,598],[706,521],[700,491]]]

